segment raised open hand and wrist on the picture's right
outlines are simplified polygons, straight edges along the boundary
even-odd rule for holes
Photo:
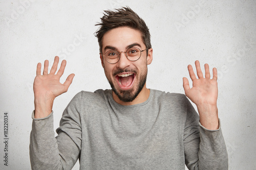
[[[185,95],[197,105],[200,115],[200,123],[207,129],[214,130],[219,128],[217,98],[218,83],[217,69],[213,68],[213,77],[210,79],[209,65],[205,64],[205,78],[203,77],[199,61],[195,62],[198,79],[193,71],[193,67],[188,65],[188,72],[193,87],[189,87],[187,78],[183,78],[183,88]]]

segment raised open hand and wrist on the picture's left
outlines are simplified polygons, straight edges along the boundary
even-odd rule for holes
[[[37,64],[36,77],[34,80],[34,96],[35,96],[35,118],[42,118],[48,116],[52,112],[53,101],[56,96],[67,92],[74,74],[68,76],[67,80],[61,84],[60,77],[66,67],[66,60],[61,62],[60,68],[55,75],[59,62],[59,57],[54,58],[54,63],[48,74],[49,61],[45,61],[44,72],[41,75],[41,63]]]

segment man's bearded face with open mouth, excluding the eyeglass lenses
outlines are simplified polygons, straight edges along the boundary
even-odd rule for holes
[[[131,46],[138,47],[141,51],[146,48],[141,33],[129,27],[112,29],[102,39],[101,63],[114,93],[122,102],[132,102],[146,88],[147,64],[152,61],[152,48],[149,50],[150,57],[143,51],[137,61],[130,61],[125,53],[121,53],[120,60],[110,64],[103,55],[109,50],[126,52]]]

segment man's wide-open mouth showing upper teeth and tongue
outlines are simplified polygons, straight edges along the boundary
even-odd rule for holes
[[[130,88],[133,85],[135,74],[119,74],[116,76],[116,80],[121,88]]]

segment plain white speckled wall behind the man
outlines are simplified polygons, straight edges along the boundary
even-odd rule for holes
[[[103,10],[129,6],[147,23],[153,63],[147,87],[183,92],[187,65],[199,60],[219,71],[219,116],[229,169],[256,169],[256,1],[1,1],[0,169],[30,169],[29,135],[36,64],[54,56],[75,78],[54,103],[54,126],[81,91],[110,88],[100,64],[94,25]],[[74,46],[77,36],[81,43]],[[76,41],[76,44],[79,41]],[[66,50],[65,50],[66,49]],[[195,67],[194,67],[195,68]],[[4,113],[9,113],[9,162],[3,164]],[[50,153],[49,153],[50,154]],[[75,165],[73,169],[78,169]]]

